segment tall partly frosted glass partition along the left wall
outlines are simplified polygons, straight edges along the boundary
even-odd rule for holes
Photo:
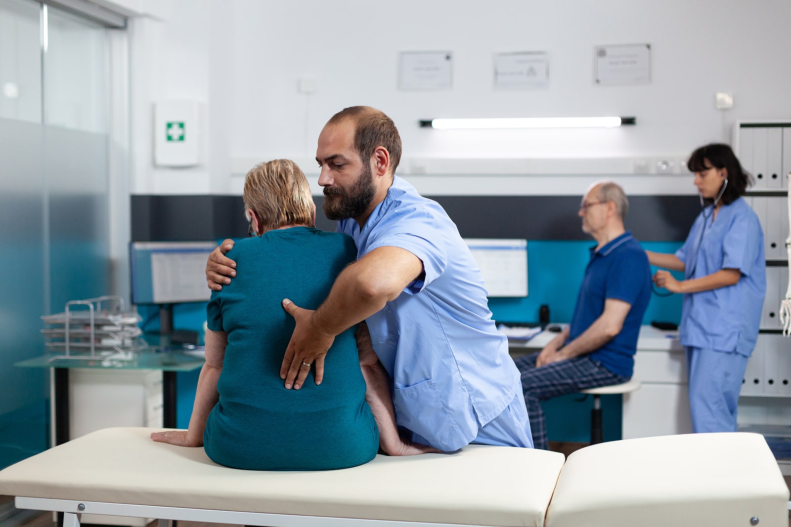
[[[50,446],[41,315],[112,293],[108,30],[0,0],[0,469]]]

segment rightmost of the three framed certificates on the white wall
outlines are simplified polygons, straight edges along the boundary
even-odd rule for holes
[[[596,85],[651,83],[651,44],[596,46],[593,81]]]

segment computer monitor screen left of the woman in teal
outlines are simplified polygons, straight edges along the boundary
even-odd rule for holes
[[[206,242],[132,242],[132,303],[206,302],[206,259],[217,247]]]

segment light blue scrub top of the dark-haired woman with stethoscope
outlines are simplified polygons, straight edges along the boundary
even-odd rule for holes
[[[734,285],[684,295],[681,344],[750,356],[766,294],[763,231],[755,211],[738,198],[722,205],[714,220],[713,205],[706,207],[676,256],[684,262],[687,280],[720,269],[741,273]]]

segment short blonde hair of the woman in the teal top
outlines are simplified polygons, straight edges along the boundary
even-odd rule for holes
[[[312,227],[316,204],[305,174],[292,160],[276,159],[255,165],[244,177],[244,216],[248,209],[258,216],[267,230],[285,225]]]

